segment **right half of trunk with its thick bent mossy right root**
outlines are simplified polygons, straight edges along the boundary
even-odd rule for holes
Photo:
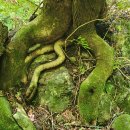
[[[105,0],[74,0],[73,28],[99,19],[106,5]],[[79,90],[78,107],[81,117],[92,122],[98,116],[98,104],[107,78],[113,70],[113,50],[95,31],[94,22],[79,28],[75,36],[81,35],[87,40],[93,55],[97,59],[96,68],[82,82]]]

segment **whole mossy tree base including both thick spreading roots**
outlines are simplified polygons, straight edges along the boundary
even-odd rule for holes
[[[1,87],[7,89],[20,82],[22,75],[26,73],[24,60],[27,50],[33,44],[45,45],[57,41],[54,50],[59,56],[56,62],[52,62],[53,65],[51,63],[51,65],[41,65],[36,69],[38,75],[34,74],[33,81],[38,79],[36,76],[39,76],[42,70],[49,69],[47,66],[52,68],[60,64],[61,60],[63,62],[64,56],[59,46],[63,46],[64,39],[80,25],[98,19],[104,6],[105,0],[44,0],[41,14],[21,28],[7,46],[1,69]],[[94,22],[86,24],[73,34],[74,37],[79,35],[86,38],[93,55],[97,58],[96,68],[81,84],[78,98],[81,116],[87,122],[91,122],[98,116],[98,104],[104,84],[112,73],[113,50],[96,34]],[[58,42],[59,39],[62,39],[61,44]],[[57,47],[59,49],[56,49]],[[36,82],[34,86],[31,83],[27,96],[31,95],[31,91],[34,93],[35,89]]]

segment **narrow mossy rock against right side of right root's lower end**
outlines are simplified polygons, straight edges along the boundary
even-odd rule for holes
[[[112,117],[111,111],[117,107],[117,104],[113,99],[113,93],[115,93],[115,87],[110,81],[107,81],[99,103],[99,115],[97,121],[100,125],[107,124],[108,120]]]

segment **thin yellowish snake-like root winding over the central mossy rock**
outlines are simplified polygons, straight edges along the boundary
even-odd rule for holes
[[[26,99],[27,101],[30,101],[36,90],[37,90],[37,83],[38,83],[38,79],[39,79],[39,76],[40,76],[40,73],[46,69],[50,69],[50,68],[53,68],[53,67],[56,67],[58,65],[60,65],[61,63],[64,62],[65,60],[65,55],[63,53],[63,50],[62,50],[62,47],[63,45],[65,44],[64,40],[58,40],[55,42],[54,44],[54,51],[56,52],[56,54],[58,55],[58,58],[52,62],[49,62],[49,63],[45,63],[45,64],[42,64],[40,66],[38,66],[35,70],[34,70],[34,74],[33,74],[33,77],[32,77],[32,80],[30,82],[30,85],[26,91]],[[51,48],[51,46],[50,46]],[[52,49],[52,48],[51,48]],[[43,50],[45,51],[46,49],[43,48]],[[39,52],[40,53],[40,52]],[[36,56],[37,54],[34,53],[34,57]],[[32,58],[29,58],[28,59],[32,59]],[[30,61],[30,60],[26,60],[26,61]]]

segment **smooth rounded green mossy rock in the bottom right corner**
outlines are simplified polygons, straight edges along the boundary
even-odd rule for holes
[[[123,114],[115,119],[112,124],[114,130],[130,130],[130,115]]]

